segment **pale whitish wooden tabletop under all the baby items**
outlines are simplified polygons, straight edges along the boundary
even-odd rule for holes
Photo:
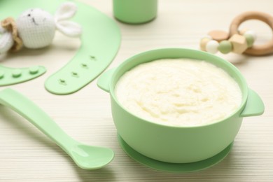
[[[111,1],[82,1],[113,18]],[[200,38],[212,29],[228,30],[232,19],[247,10],[273,15],[272,7],[272,0],[159,0],[158,17],[153,22],[126,25],[113,18],[120,27],[122,43],[109,68],[155,48],[199,49]],[[272,30],[257,20],[241,27],[257,32],[257,44],[272,38]],[[273,55],[217,54],[237,66],[248,86],[262,97],[265,113],[244,118],[232,151],[218,165],[200,172],[169,174],[144,167],[123,152],[116,138],[109,94],[97,87],[97,80],[64,96],[45,90],[45,79],[66,64],[79,45],[78,39],[57,34],[49,48],[0,55],[0,61],[13,67],[45,66],[48,71],[43,76],[9,87],[34,101],[74,139],[113,148],[113,162],[103,169],[80,169],[25,118],[0,106],[0,181],[273,181]]]

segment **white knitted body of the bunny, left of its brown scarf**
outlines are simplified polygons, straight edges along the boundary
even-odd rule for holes
[[[0,26],[0,54],[8,52],[13,47],[13,35]]]

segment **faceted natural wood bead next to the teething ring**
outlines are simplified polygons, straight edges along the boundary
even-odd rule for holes
[[[241,54],[247,49],[246,38],[244,36],[234,34],[228,41],[232,43],[232,52]]]

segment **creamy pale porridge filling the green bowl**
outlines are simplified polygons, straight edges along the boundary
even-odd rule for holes
[[[228,73],[195,59],[158,59],[135,66],[118,80],[115,94],[135,116],[171,126],[223,120],[237,110],[242,97]]]

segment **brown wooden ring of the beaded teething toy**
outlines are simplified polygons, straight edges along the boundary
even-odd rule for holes
[[[260,20],[265,22],[273,30],[273,17],[267,13],[249,11],[238,15],[230,25],[230,36],[239,34],[238,27],[246,20]],[[253,45],[248,48],[244,53],[248,55],[268,55],[273,53],[273,37],[271,41],[262,45]]]

